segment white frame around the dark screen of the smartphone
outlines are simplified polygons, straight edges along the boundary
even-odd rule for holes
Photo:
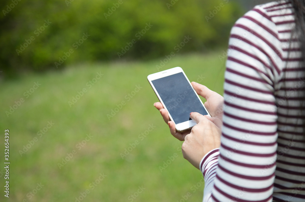
[[[152,84],[153,80],[159,79],[159,78],[164,78],[173,74],[178,74],[182,72],[183,75],[185,76],[186,80],[188,81],[189,85],[191,86],[191,88],[193,89],[193,91],[195,92],[197,98],[199,99],[200,103],[202,104],[202,106],[204,107],[204,109],[206,110],[206,107],[204,106],[203,102],[201,101],[201,99],[199,98],[198,94],[196,93],[195,89],[193,88],[191,82],[188,80],[187,76],[185,75],[184,71],[182,70],[181,67],[175,67],[175,68],[171,68],[171,69],[167,69],[164,71],[160,71],[151,75],[147,76],[147,79],[150,83],[150,85],[152,86],[152,89],[154,90],[154,92],[156,93],[158,99],[160,100],[160,102],[162,103],[164,109],[167,110],[165,104],[163,103],[163,100],[161,99],[159,93],[157,92],[155,86]],[[168,111],[168,110],[167,110]],[[206,110],[207,115],[210,116],[210,113],[208,112],[208,110]],[[170,113],[168,113],[168,116],[170,117],[170,120],[174,122],[173,118],[171,117]],[[175,123],[175,122],[174,122]],[[176,123],[175,123],[176,124]],[[176,130],[179,132],[184,132],[184,131],[188,131],[189,129],[191,129],[193,126],[196,125],[196,122],[194,120],[188,120],[185,121],[183,123],[180,124],[176,124]]]

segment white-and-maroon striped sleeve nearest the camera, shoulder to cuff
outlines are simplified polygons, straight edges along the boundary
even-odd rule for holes
[[[257,6],[231,30],[221,147],[200,163],[204,202],[272,201],[278,138],[274,93],[282,68],[278,28]]]

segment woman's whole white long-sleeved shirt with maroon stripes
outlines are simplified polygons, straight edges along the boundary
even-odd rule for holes
[[[200,162],[204,202],[305,201],[305,65],[294,28],[285,0],[254,7],[232,28],[221,147]]]

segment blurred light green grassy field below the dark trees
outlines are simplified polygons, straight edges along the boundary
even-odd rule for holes
[[[190,81],[222,94],[219,54],[177,55],[159,71],[180,66]],[[0,167],[0,201],[201,201],[202,174],[153,106],[158,99],[147,75],[160,59],[2,81],[0,143],[9,129],[11,164],[9,199]]]

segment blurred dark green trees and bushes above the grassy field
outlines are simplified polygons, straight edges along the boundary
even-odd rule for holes
[[[209,50],[227,42],[243,14],[228,0],[2,0],[0,7],[0,65],[11,74]]]

